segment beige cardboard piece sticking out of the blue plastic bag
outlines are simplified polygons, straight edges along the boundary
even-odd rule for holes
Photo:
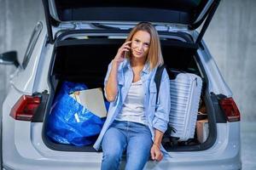
[[[70,94],[79,104],[99,117],[106,117],[107,110],[104,103],[102,88],[91,88]]]

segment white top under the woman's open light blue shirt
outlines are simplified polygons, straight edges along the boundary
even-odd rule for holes
[[[131,87],[125,99],[123,108],[115,120],[139,122],[147,125],[144,111],[144,98],[145,92],[142,80],[131,82]]]

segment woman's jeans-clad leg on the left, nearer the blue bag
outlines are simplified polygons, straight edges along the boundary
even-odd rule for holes
[[[102,170],[119,169],[119,162],[127,145],[125,134],[119,127],[123,123],[113,123],[102,139]],[[125,126],[124,126],[125,127]]]

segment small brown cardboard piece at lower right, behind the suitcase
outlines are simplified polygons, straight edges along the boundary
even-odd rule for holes
[[[197,139],[200,143],[204,143],[209,135],[208,120],[204,119],[196,122]]]

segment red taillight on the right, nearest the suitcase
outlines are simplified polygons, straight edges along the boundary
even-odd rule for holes
[[[219,104],[227,117],[228,122],[240,121],[240,111],[238,110],[234,99],[220,99]]]

